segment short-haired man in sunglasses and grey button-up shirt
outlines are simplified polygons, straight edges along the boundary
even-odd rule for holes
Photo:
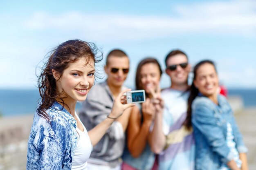
[[[129,72],[129,58],[119,49],[110,51],[106,58],[105,82],[96,84],[83,102],[80,119],[87,130],[97,126],[111,112],[115,97],[126,87],[123,85]],[[126,109],[121,117],[116,119],[101,141],[94,146],[88,159],[90,170],[121,170],[121,155],[123,154],[125,135],[130,109]]]

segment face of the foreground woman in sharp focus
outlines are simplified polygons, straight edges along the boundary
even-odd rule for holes
[[[58,80],[56,81],[58,91],[64,91],[61,97],[67,97],[63,99],[66,104],[76,101],[82,102],[86,99],[94,84],[94,72],[94,61],[90,60],[87,64],[85,58],[81,58],[70,63],[59,80],[60,75],[54,73],[54,78]]]

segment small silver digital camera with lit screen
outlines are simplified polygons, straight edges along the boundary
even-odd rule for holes
[[[127,103],[143,103],[146,101],[145,91],[128,91],[126,92]]]

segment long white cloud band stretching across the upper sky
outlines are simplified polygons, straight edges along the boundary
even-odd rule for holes
[[[256,2],[252,0],[186,4],[170,10],[176,12],[174,16],[38,12],[23,24],[31,30],[72,32],[104,42],[179,33],[256,35]]]

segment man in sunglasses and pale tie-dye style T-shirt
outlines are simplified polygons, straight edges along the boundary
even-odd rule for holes
[[[194,170],[195,142],[192,130],[183,124],[187,115],[190,64],[187,55],[171,51],[165,59],[166,74],[171,87],[161,92],[163,113],[155,116],[150,146],[159,154],[159,170]]]

